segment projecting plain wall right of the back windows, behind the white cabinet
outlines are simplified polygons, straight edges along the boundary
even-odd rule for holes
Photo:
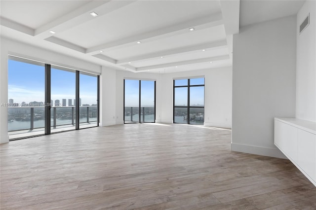
[[[274,117],[295,117],[296,16],[240,28],[233,52],[232,150],[284,158]]]

